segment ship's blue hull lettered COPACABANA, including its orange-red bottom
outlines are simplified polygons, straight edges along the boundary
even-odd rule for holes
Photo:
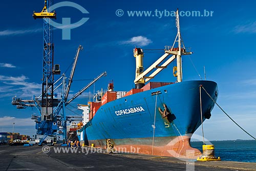
[[[190,137],[201,125],[200,85],[217,100],[215,82],[184,81],[106,103],[79,131],[82,141],[117,151],[196,158],[201,153],[191,148]],[[215,104],[203,89],[201,99],[205,120]]]

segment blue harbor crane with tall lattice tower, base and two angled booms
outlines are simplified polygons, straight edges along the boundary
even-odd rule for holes
[[[78,97],[83,91],[90,87],[102,76],[106,76],[106,72],[102,72],[97,78],[95,78],[87,86],[78,91],[69,101],[69,91],[73,80],[77,59],[82,46],[79,45],[75,60],[73,63],[72,71],[70,74],[69,82],[66,84],[66,76],[62,76],[55,82],[54,75],[60,75],[59,65],[53,65],[54,43],[53,43],[53,26],[51,25],[51,18],[56,19],[56,13],[51,12],[52,0],[45,0],[44,8],[41,12],[33,13],[34,19],[44,19],[44,38],[43,38],[43,64],[42,64],[42,91],[41,95],[36,97],[33,95],[32,100],[22,100],[17,96],[12,99],[12,105],[16,105],[17,109],[24,109],[26,107],[36,107],[40,116],[32,115],[32,119],[35,120],[36,135],[35,140],[38,145],[51,144],[63,142],[67,140],[67,120],[65,107],[70,104],[76,97]],[[60,80],[62,82],[56,86]],[[55,90],[62,85],[62,95],[57,97]],[[62,109],[62,110],[61,110]],[[62,137],[62,138],[61,138]],[[58,138],[58,139],[57,139]]]

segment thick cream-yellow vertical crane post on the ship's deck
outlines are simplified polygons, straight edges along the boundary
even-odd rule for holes
[[[141,48],[134,48],[133,50],[134,57],[136,58],[136,75],[135,79],[141,75],[144,71],[143,67],[143,50]],[[140,89],[145,85],[145,80],[142,78],[135,82],[135,88]]]

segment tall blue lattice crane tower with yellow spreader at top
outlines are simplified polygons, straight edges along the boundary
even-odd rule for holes
[[[54,74],[60,74],[60,71],[54,72],[53,68],[53,26],[50,18],[56,19],[55,12],[51,13],[52,0],[45,0],[44,8],[41,12],[33,13],[34,19],[44,19],[44,38],[43,38],[43,60],[42,60],[42,94],[40,102],[41,123],[37,134],[44,134],[44,138],[57,132],[57,118],[53,118],[53,82]],[[56,65],[57,67],[57,65]],[[59,67],[57,67],[59,69]],[[44,139],[40,137],[41,139]],[[41,142],[41,141],[40,141]]]

